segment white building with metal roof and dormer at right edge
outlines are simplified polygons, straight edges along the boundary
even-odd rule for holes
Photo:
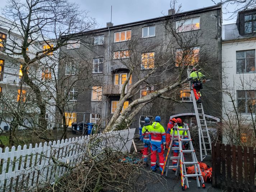
[[[255,23],[256,9],[250,9],[240,11],[236,23],[223,25],[222,112],[223,123],[226,124],[223,133],[226,142],[232,138],[229,136],[233,136],[233,140],[247,143],[255,135]]]

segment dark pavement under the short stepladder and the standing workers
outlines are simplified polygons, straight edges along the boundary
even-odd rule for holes
[[[140,140],[135,140],[135,145],[138,151],[143,149],[143,142]],[[134,147],[132,145],[131,151],[134,151]],[[167,153],[167,150],[165,151],[165,154]],[[199,158],[199,156],[197,156]],[[204,163],[208,164],[211,166],[211,159],[208,158]],[[150,170],[150,166],[145,168],[146,170]],[[156,191],[161,191],[161,192],[180,192],[182,191],[181,189],[181,178],[180,174],[178,176],[175,176],[175,173],[172,170],[169,170],[168,172],[168,177],[164,175],[164,177],[160,176],[160,170],[158,168],[157,172],[155,172],[155,177],[159,179],[157,183],[148,183],[146,184],[144,190],[140,189],[140,191],[145,191],[145,192],[156,192]],[[157,180],[157,179],[156,179]],[[206,188],[198,188],[196,184],[195,179],[188,179],[189,182],[189,188],[186,189],[186,191],[197,191],[197,192],[222,192],[220,189],[216,189],[211,187],[211,183],[206,183]]]

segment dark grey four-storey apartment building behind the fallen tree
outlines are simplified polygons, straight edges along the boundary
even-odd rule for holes
[[[158,67],[152,77],[134,90],[135,94],[124,103],[123,109],[132,100],[154,92],[173,81],[173,75],[177,71],[176,61],[180,59],[179,54],[187,42],[183,42],[183,46],[178,43],[178,37],[174,37],[173,33],[168,31],[170,26],[174,33],[179,37],[182,36],[183,41],[186,37],[192,37],[190,43],[193,46],[190,47],[189,58],[185,60],[192,61],[192,65],[198,61],[204,64],[201,72],[210,79],[202,90],[205,114],[214,121],[219,120],[222,116],[221,5],[183,13],[169,10],[168,13],[164,17],[116,26],[107,23],[105,28],[78,33],[77,38],[74,38],[73,46],[61,48],[59,80],[68,77],[66,79],[69,79],[69,85],[75,82],[71,91],[66,93],[71,95],[70,107],[65,113],[69,126],[72,122],[82,121],[101,122],[104,126],[116,109],[130,70],[133,72],[125,87],[125,93],[155,66],[159,66],[161,59],[166,61],[165,64],[168,63],[167,66]],[[162,52],[170,46],[169,52]],[[169,53],[170,56],[166,58]],[[132,55],[136,56],[132,57]],[[68,58],[72,58],[72,61],[62,62]],[[75,70],[77,64],[80,67],[86,66],[86,70],[83,69],[86,71],[83,77],[86,78],[78,78],[75,72],[71,72]],[[175,93],[172,92],[170,95],[181,103],[158,98],[139,111],[133,118],[131,127],[143,126],[146,116],[154,118],[157,115],[161,116],[164,127],[167,127],[170,116],[182,117],[186,122],[191,123],[191,118],[195,114],[188,84],[176,89]]]

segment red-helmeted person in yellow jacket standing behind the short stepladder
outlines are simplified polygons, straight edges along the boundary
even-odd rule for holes
[[[181,118],[177,118],[176,121],[175,121],[175,123],[177,123],[178,128],[183,128],[183,127],[182,127],[182,124],[181,124],[181,123],[182,123]],[[175,126],[175,125],[174,125],[174,126]],[[172,139],[172,135],[173,135],[173,130],[174,130],[174,128],[172,128],[171,133],[170,133],[171,139]],[[183,131],[179,131],[179,133],[180,133],[180,136],[183,135]],[[178,137],[178,133],[177,133],[177,130],[175,130],[175,132],[174,132],[174,138],[177,138],[177,137]],[[187,131],[185,131],[185,133],[184,133],[184,138],[183,138],[183,139],[188,139]],[[182,146],[182,149],[185,148],[186,146],[188,146],[188,141],[183,142],[183,144],[184,144],[184,146]],[[177,140],[173,141],[172,147],[178,147],[178,146],[179,146],[179,142],[178,142]],[[174,156],[174,157],[177,157],[178,155],[179,155],[179,150],[173,150],[173,156]],[[177,166],[177,163],[178,163],[177,161],[178,161],[178,159],[173,159],[173,160],[172,160],[173,166]],[[173,171],[176,171],[176,168],[173,168],[172,170],[173,170]]]

